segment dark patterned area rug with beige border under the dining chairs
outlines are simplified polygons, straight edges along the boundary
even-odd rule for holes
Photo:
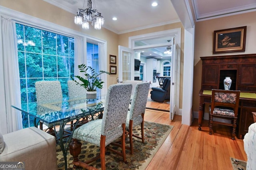
[[[164,140],[170,134],[173,126],[169,125],[162,125],[158,123],[151,123],[151,122],[144,122],[144,137],[145,142],[144,144],[141,140],[137,138],[133,138],[134,144],[134,154],[130,154],[130,150],[126,150],[126,161],[124,163],[122,161],[122,156],[118,156],[113,152],[107,151],[106,152],[106,169],[107,170],[144,170],[160,146],[163,144]],[[134,127],[133,130],[134,134],[140,135],[141,129],[140,126]],[[82,141],[81,141],[82,142]],[[126,138],[126,146],[129,146],[129,138]],[[121,150],[116,146],[112,146],[112,148],[116,150]],[[79,155],[79,160],[82,161],[88,157],[94,157],[95,154],[100,154],[100,147],[87,143],[82,142],[82,152]],[[73,156],[70,155],[68,151],[67,155],[68,160],[68,170],[72,170],[72,161]],[[57,163],[58,163],[58,170],[64,170],[64,158],[62,155],[62,151],[60,146],[57,145]],[[100,166],[100,159],[91,163],[97,169],[101,169]]]

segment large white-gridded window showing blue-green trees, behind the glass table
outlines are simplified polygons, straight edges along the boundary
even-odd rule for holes
[[[22,109],[36,102],[36,81],[60,81],[67,97],[67,81],[74,76],[74,38],[22,24],[16,24],[16,34]],[[30,119],[22,115],[24,128],[34,125]]]

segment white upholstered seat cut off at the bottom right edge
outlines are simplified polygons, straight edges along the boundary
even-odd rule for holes
[[[256,168],[256,123],[249,126],[248,133],[244,135],[244,150],[247,155],[246,170]]]

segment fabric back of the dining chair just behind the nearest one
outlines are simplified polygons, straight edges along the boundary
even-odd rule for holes
[[[135,86],[134,96],[130,108],[130,120],[133,120],[138,116],[141,117],[141,114],[145,112],[149,87],[149,83],[138,83]]]

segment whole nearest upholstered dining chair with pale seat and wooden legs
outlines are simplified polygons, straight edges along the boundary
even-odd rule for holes
[[[114,142],[120,136],[122,141],[123,161],[126,162],[125,154],[125,123],[132,93],[132,84],[115,84],[110,85],[106,95],[106,102],[103,111],[103,118],[90,121],[74,130],[72,142],[69,145],[70,154],[74,157],[74,168],[82,166],[86,169],[94,169],[89,163],[100,158],[102,170],[106,169],[105,165],[105,149],[108,148],[116,152],[112,148],[107,147],[108,144]],[[90,160],[81,162],[78,155],[81,153],[81,142],[83,140],[100,146],[100,154]],[[105,148],[106,147],[106,148]]]

